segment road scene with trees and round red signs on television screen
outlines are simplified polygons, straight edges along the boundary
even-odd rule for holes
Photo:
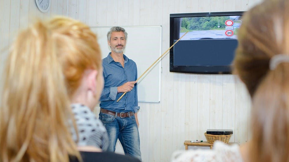
[[[237,39],[238,29],[242,23],[240,15],[182,17],[179,19],[180,36],[189,31],[181,40]]]

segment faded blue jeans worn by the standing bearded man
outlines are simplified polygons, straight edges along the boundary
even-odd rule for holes
[[[115,151],[116,141],[119,139],[126,155],[141,160],[139,130],[134,115],[121,118],[100,112],[99,119],[104,124],[109,136],[108,151]]]

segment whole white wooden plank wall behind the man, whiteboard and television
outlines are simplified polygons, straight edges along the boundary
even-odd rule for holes
[[[9,46],[17,29],[27,27],[36,17],[68,15],[89,26],[162,25],[164,52],[169,48],[169,14],[246,11],[261,1],[52,0],[51,9],[43,14],[35,0],[1,0],[0,50]],[[1,52],[1,63],[6,55]],[[173,151],[184,148],[184,140],[205,140],[203,133],[208,128],[233,129],[230,141],[239,143],[251,137],[251,100],[243,83],[231,75],[171,73],[169,54],[162,58],[161,65],[161,102],[139,103],[143,161],[170,161]],[[121,153],[119,147],[118,143],[117,151]]]

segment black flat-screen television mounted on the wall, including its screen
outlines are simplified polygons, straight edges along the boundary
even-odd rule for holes
[[[170,14],[170,72],[231,74],[243,11]]]

